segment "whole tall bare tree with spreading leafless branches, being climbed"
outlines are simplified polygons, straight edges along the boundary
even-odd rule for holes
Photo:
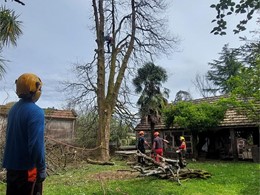
[[[165,10],[169,5],[164,0],[92,0],[92,5],[97,44],[94,58],[80,66],[77,79],[82,80],[68,83],[66,89],[76,100],[74,103],[81,101],[97,109],[98,152],[102,160],[109,160],[112,114],[129,100],[129,88],[122,86],[127,86],[126,79],[134,73],[135,66],[159,54],[168,54],[177,39],[166,29]],[[112,40],[110,53],[107,35]]]

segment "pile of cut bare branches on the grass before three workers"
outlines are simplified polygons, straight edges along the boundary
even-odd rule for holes
[[[132,166],[134,170],[140,172],[139,176],[141,177],[153,175],[162,179],[171,179],[177,181],[179,184],[181,184],[180,180],[184,179],[207,179],[211,177],[211,174],[207,171],[186,168],[187,163],[181,157],[178,159],[169,159],[159,156],[161,162],[157,162],[153,158],[141,153],[140,151],[137,151],[136,155],[145,159],[145,164]]]

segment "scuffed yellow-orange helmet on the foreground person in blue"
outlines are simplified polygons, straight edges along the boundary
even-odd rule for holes
[[[42,81],[32,73],[22,74],[16,81],[16,94],[19,98],[36,102],[41,96]]]

